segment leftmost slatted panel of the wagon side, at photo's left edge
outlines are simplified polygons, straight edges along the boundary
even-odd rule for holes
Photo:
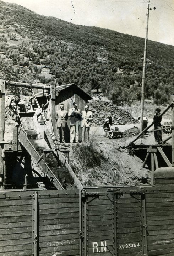
[[[0,256],[32,255],[32,192],[0,192]]]

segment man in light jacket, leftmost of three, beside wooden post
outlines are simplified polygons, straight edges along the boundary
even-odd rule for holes
[[[64,110],[64,104],[60,104],[60,110],[56,112],[56,119],[57,119],[59,142],[64,143],[65,142],[64,132],[65,132],[66,120],[68,119],[68,112]]]

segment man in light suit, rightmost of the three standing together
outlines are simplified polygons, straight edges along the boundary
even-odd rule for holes
[[[87,141],[89,141],[89,130],[91,126],[91,121],[93,120],[92,112],[89,111],[89,106],[85,106],[85,110],[82,111],[81,116],[81,127],[82,127],[82,142],[84,142],[85,139],[85,131],[87,136]]]

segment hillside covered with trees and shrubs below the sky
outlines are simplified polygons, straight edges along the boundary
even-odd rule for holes
[[[139,37],[74,25],[0,1],[0,75],[6,80],[76,83],[89,94],[100,88],[117,105],[131,104],[141,98],[143,48]],[[148,41],[146,98],[167,103],[174,93],[173,65],[173,46]]]

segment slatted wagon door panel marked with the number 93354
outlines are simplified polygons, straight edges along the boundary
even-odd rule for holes
[[[116,255],[147,256],[145,195],[114,192]]]

